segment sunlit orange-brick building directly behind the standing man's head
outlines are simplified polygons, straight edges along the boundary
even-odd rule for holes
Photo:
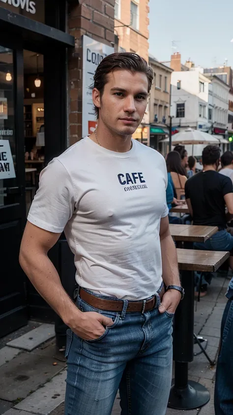
[[[148,62],[149,0],[115,1],[115,51],[133,52]],[[133,138],[149,145],[149,107]]]

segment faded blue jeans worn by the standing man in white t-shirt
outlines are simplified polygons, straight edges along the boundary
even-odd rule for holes
[[[111,415],[118,389],[121,415],[165,415],[173,315],[159,313],[156,296],[156,307],[141,313],[126,313],[127,300],[118,313],[95,309],[78,297],[83,312],[101,313],[114,323],[96,340],[82,340],[67,330],[65,415]]]

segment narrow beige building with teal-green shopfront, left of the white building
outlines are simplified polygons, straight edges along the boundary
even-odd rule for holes
[[[150,147],[161,150],[160,141],[169,133],[170,88],[173,70],[149,56],[153,84],[149,96]]]

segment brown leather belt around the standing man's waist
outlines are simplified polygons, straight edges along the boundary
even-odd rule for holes
[[[160,299],[164,294],[164,287],[161,289],[159,296]],[[103,298],[96,297],[95,295],[89,294],[83,288],[80,288],[79,291],[80,298],[84,300],[87,304],[94,308],[98,308],[100,310],[105,311],[122,311],[123,310],[123,301],[119,300],[105,300]],[[146,304],[144,304],[143,300],[140,301],[128,301],[128,306],[126,312],[133,312],[136,311],[138,313],[144,311],[152,310],[157,303],[156,295],[154,295],[151,299],[146,300]]]

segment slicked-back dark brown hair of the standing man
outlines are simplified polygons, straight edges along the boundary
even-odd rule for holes
[[[130,72],[145,73],[148,81],[149,93],[153,81],[153,70],[147,64],[145,59],[143,59],[136,53],[131,52],[118,52],[106,56],[97,66],[97,69],[94,74],[94,83],[91,89],[96,88],[100,92],[100,96],[102,96],[104,92],[104,87],[108,82],[107,75],[115,70],[128,70]],[[98,119],[99,108],[97,108],[96,106],[95,115]]]

